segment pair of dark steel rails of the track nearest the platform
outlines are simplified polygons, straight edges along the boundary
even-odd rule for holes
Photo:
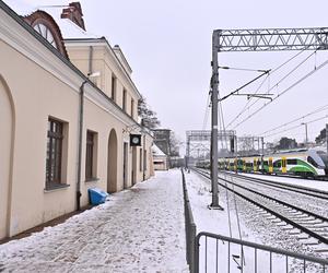
[[[198,173],[199,173],[200,175],[202,175],[203,177],[210,179],[210,177],[208,176],[208,174],[206,175],[203,171],[199,171],[199,170],[197,170],[197,169],[194,169],[194,170],[195,170],[195,171],[198,171]],[[232,183],[232,185],[234,185],[234,186],[237,186],[237,187],[239,187],[239,188],[244,188],[245,190],[250,191],[250,192],[253,192],[253,193],[255,193],[255,194],[262,195],[262,198],[266,198],[266,199],[268,199],[268,200],[272,200],[272,201],[274,201],[276,203],[280,203],[280,204],[282,204],[282,205],[284,205],[284,206],[290,206],[290,207],[293,209],[293,210],[300,211],[300,212],[302,212],[302,213],[304,213],[304,214],[307,214],[308,216],[317,217],[317,218],[319,218],[319,219],[321,219],[321,221],[328,223],[328,218],[323,217],[321,215],[316,215],[315,213],[312,213],[312,212],[305,211],[305,210],[303,210],[303,209],[301,209],[301,207],[296,207],[296,206],[294,206],[294,205],[288,204],[288,203],[285,203],[285,202],[282,202],[282,201],[280,201],[280,200],[277,200],[277,199],[271,198],[271,197],[268,197],[268,195],[262,194],[262,193],[260,193],[260,192],[256,192],[256,191],[254,191],[254,190],[249,190],[249,189],[247,189],[247,188],[245,188],[245,187],[243,187],[243,186],[241,187],[241,186],[238,186],[238,185],[236,185],[236,183],[234,183],[234,182],[232,182],[232,181],[229,181],[229,180],[226,180],[226,179],[223,179],[223,178],[220,178],[220,179],[222,179],[222,180],[224,180],[224,181],[226,181],[226,182],[229,182],[229,183]],[[294,226],[295,228],[297,228],[297,229],[304,232],[305,234],[309,235],[311,237],[318,239],[320,242],[324,242],[324,244],[328,245],[328,239],[327,239],[326,237],[323,237],[323,236],[320,236],[319,234],[317,234],[317,233],[315,233],[315,232],[308,229],[307,227],[305,227],[305,226],[303,226],[303,225],[301,225],[301,224],[298,224],[298,223],[296,223],[296,222],[294,222],[294,221],[292,221],[292,219],[285,217],[284,215],[282,215],[282,214],[280,214],[280,213],[278,213],[278,212],[276,212],[276,211],[269,209],[268,206],[266,206],[266,205],[263,205],[263,204],[261,204],[261,203],[259,203],[259,202],[257,202],[257,201],[255,201],[255,200],[253,200],[253,199],[250,199],[250,198],[248,198],[248,197],[245,197],[244,194],[242,194],[242,193],[239,193],[239,192],[237,192],[237,191],[235,191],[235,190],[230,189],[229,187],[226,187],[226,186],[223,185],[223,183],[220,183],[220,182],[219,182],[219,185],[220,185],[221,187],[223,187],[223,188],[230,190],[230,191],[233,191],[233,192],[234,192],[235,194],[237,194],[238,197],[241,197],[241,198],[247,200],[248,202],[255,204],[256,206],[258,206],[258,207],[260,207],[260,209],[262,209],[262,210],[269,212],[270,214],[272,214],[272,215],[274,215],[276,217],[280,218],[281,221],[283,221],[283,222],[290,224],[291,226]]]

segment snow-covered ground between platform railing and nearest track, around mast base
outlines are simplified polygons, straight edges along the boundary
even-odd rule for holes
[[[246,241],[257,242],[283,250],[295,251],[298,253],[311,253],[313,251],[301,244],[295,237],[291,236],[286,229],[279,227],[272,223],[268,215],[259,213],[259,211],[248,202],[241,198],[226,192],[219,187],[219,204],[224,211],[209,210],[208,205],[211,203],[210,182],[204,180],[200,175],[195,173],[186,174],[186,183],[188,188],[191,210],[197,225],[197,233],[209,232],[213,234],[223,235],[243,239]],[[231,223],[231,225],[230,225]],[[200,241],[200,272],[204,272],[204,245],[208,247],[207,254],[207,270],[208,272],[215,272],[216,266],[216,241],[204,239]],[[245,272],[255,272],[254,264],[254,249],[241,248],[232,245],[231,250],[227,249],[227,244],[218,241],[219,247],[219,268],[220,272],[227,272],[230,264],[230,272],[241,272],[241,257],[244,257]],[[230,253],[230,254],[229,254]],[[257,270],[258,272],[269,272],[269,256],[258,251]],[[273,256],[274,272],[285,272],[285,258]],[[303,261],[294,261],[290,259],[290,266],[293,270],[300,270]],[[292,271],[291,271],[292,272]],[[307,264],[306,272],[317,272],[314,264]]]

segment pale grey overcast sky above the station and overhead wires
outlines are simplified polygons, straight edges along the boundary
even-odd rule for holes
[[[13,2],[13,0],[7,0]],[[67,4],[67,0],[17,0],[32,5]],[[219,0],[81,0],[86,29],[104,35],[110,45],[118,44],[126,55],[141,94],[162,122],[163,128],[175,131],[185,140],[186,130],[203,129],[206,105],[211,76],[211,35],[215,28],[272,28],[328,26],[328,1],[219,1]],[[251,69],[274,69],[297,54],[293,52],[238,52],[220,54],[221,66]],[[281,72],[270,75],[259,93],[268,92],[311,51],[302,52]],[[295,74],[272,88],[277,95],[314,68],[328,59],[328,52],[314,54]],[[234,91],[258,72],[220,70],[221,96]],[[253,118],[241,122],[256,110],[256,105],[241,115],[232,127],[238,135],[257,135],[328,104],[328,66],[314,73]],[[265,79],[265,78],[263,78]],[[242,93],[255,92],[261,81]],[[254,99],[249,103],[255,102]],[[257,107],[269,102],[261,99]],[[243,109],[247,98],[232,96],[224,100],[225,126]],[[290,127],[300,126],[320,117],[320,111]],[[308,123],[309,140],[319,133],[328,119]],[[238,124],[239,123],[239,124]],[[237,127],[235,127],[238,124]],[[208,118],[207,128],[210,126]],[[286,127],[288,128],[288,127]],[[284,128],[281,128],[284,130]],[[305,139],[305,127],[268,136],[266,141],[281,136]]]

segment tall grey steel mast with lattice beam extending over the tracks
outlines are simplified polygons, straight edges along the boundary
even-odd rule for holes
[[[218,94],[219,52],[327,50],[328,27],[267,28],[267,29],[216,29],[212,36],[212,133],[211,180],[212,203],[220,209],[218,197]]]

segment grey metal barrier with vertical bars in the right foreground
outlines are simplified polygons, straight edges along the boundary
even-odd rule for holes
[[[211,233],[199,233],[195,272],[328,272],[328,260]]]

